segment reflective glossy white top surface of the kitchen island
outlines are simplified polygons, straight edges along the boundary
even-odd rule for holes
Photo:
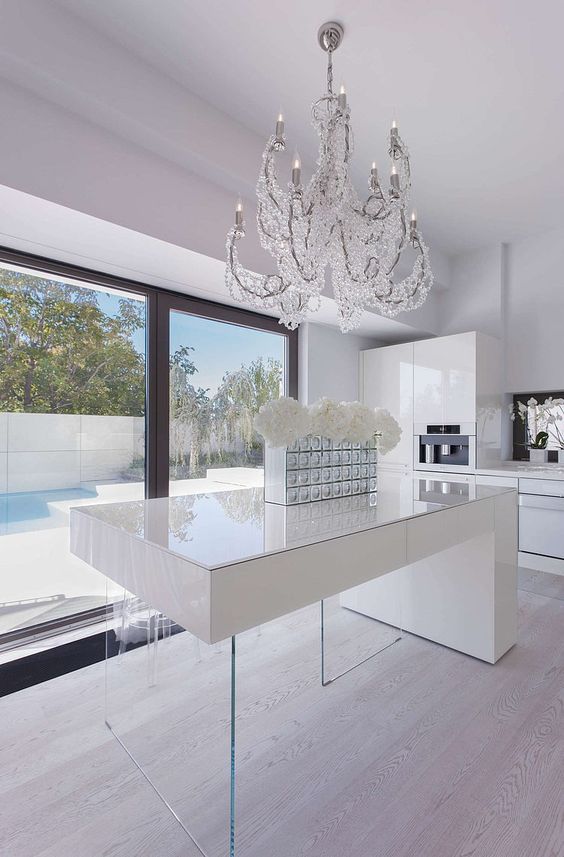
[[[512,489],[381,473],[378,491],[295,506],[265,503],[261,488],[81,506],[95,519],[206,570],[313,545],[495,497]]]

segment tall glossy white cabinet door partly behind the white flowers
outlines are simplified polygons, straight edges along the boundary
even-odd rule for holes
[[[387,408],[399,422],[399,444],[382,464],[413,466],[413,343],[373,348],[361,353],[362,401],[371,408]]]

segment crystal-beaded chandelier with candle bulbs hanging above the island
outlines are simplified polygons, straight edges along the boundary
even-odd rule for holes
[[[365,309],[388,318],[416,309],[433,284],[429,250],[415,212],[407,223],[409,153],[395,122],[390,130],[390,186],[382,187],[375,163],[364,201],[352,184],[350,109],[344,87],[338,95],[333,92],[333,52],[342,37],[342,27],[334,22],[319,30],[319,43],[327,52],[327,92],[312,107],[319,155],[309,184],[302,184],[297,153],[288,189],[278,183],[275,155],[285,148],[281,114],[264,150],[257,184],[257,227],[277,272],[261,275],[240,264],[237,242],[245,235],[240,199],[235,224],[227,234],[226,283],[232,297],[259,309],[274,309],[281,324],[291,329],[319,309],[327,266],[343,333],[358,327]],[[416,251],[416,258],[411,273],[396,283],[396,268],[408,247]]]

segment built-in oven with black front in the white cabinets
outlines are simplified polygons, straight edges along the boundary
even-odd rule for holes
[[[415,424],[413,438],[415,470],[446,473],[476,470],[476,424]]]

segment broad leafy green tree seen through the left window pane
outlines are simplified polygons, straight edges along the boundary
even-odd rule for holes
[[[108,315],[93,290],[0,269],[0,410],[143,415],[143,324],[137,300]]]

